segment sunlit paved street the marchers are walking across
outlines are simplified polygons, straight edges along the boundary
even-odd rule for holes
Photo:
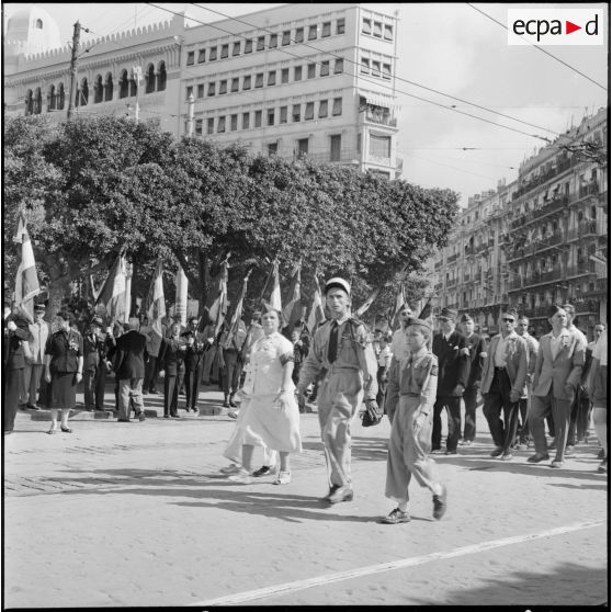
[[[146,399],[161,415],[160,398]],[[201,403],[218,412],[220,394],[208,387]],[[7,608],[607,601],[608,477],[594,437],[563,469],[529,465],[528,452],[507,463],[488,456],[479,413],[474,446],[437,455],[446,515],[432,520],[415,483],[412,522],[383,525],[394,506],[383,495],[387,421],[355,422],[355,499],[326,508],[316,413],[302,416],[304,452],[282,487],[222,477],[235,421],[181,415],[80,413],[72,434],[56,435],[18,415],[4,437]]]

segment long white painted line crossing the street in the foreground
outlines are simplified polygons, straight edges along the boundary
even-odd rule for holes
[[[286,594],[290,592],[302,591],[304,589],[310,589],[311,587],[320,587],[322,585],[331,585],[332,582],[340,582],[341,580],[350,580],[352,578],[360,578],[362,576],[372,576],[374,574],[382,574],[383,571],[392,571],[394,569],[401,569],[404,567],[413,567],[416,565],[423,565],[426,563],[438,560],[438,559],[449,559],[452,557],[461,557],[463,555],[472,555],[474,553],[481,553],[484,551],[490,551],[491,548],[499,548],[501,546],[510,546],[511,544],[520,544],[521,542],[528,542],[530,540],[540,540],[542,537],[551,537],[554,535],[560,535],[563,533],[570,533],[573,531],[580,531],[585,529],[591,529],[594,526],[600,526],[605,524],[604,521],[588,522],[588,523],[576,523],[573,525],[566,525],[555,529],[549,529],[542,531],[540,533],[528,533],[525,535],[514,535],[512,537],[503,537],[501,540],[492,540],[490,542],[480,542],[479,544],[471,544],[469,546],[461,546],[454,551],[446,551],[440,553],[431,553],[429,555],[422,555],[419,557],[408,557],[406,559],[399,559],[388,563],[379,563],[376,565],[369,565],[365,567],[358,567],[355,569],[349,569],[347,571],[337,571],[335,574],[328,574],[327,576],[317,576],[315,578],[306,578],[305,580],[295,580],[293,582],[285,582],[284,585],[276,585],[272,587],[264,587],[263,589],[256,589],[252,591],[245,591],[241,593],[235,593],[226,597],[219,597],[217,599],[209,599],[206,601],[200,601],[197,603],[191,603],[189,605],[236,605],[239,603],[246,603],[250,601],[256,601],[258,599],[264,599],[267,597]]]

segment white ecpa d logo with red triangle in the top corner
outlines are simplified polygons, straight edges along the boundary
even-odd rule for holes
[[[508,9],[509,45],[603,45],[603,9]]]

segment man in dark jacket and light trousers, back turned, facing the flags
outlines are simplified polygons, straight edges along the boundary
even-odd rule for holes
[[[118,379],[118,422],[129,422],[129,400],[134,404],[136,416],[145,420],[143,403],[143,381],[147,361],[147,338],[139,333],[140,321],[131,317],[128,331],[116,341],[115,375]]]

